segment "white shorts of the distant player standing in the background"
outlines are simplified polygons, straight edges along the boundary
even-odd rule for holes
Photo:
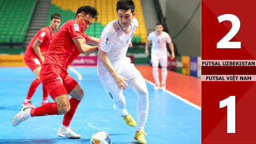
[[[152,67],[158,67],[159,62],[162,67],[167,67],[167,54],[151,53]]]

